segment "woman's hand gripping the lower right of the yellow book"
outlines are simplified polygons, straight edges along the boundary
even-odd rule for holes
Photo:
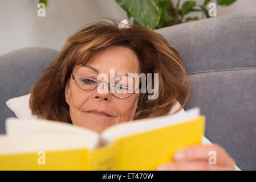
[[[210,151],[215,151],[209,153]],[[216,155],[214,155],[216,154]],[[214,156],[216,161],[214,162]],[[211,159],[210,159],[211,158]],[[210,160],[209,160],[210,159]],[[159,171],[214,171],[214,170],[234,170],[235,162],[227,152],[218,144],[195,145],[183,148],[178,151],[173,162],[161,164],[157,167]]]

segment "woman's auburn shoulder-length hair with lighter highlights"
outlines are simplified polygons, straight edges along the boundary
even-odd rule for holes
[[[159,97],[148,100],[141,93],[134,119],[167,115],[180,103],[180,111],[189,98],[190,82],[180,53],[161,34],[136,24],[119,28],[119,21],[93,22],[68,37],[67,42],[42,71],[30,89],[29,106],[38,118],[72,123],[64,97],[65,85],[75,65],[87,65],[100,51],[111,46],[124,46],[137,55],[141,73],[159,73]],[[153,77],[152,77],[153,83]],[[125,101],[125,99],[124,99]]]

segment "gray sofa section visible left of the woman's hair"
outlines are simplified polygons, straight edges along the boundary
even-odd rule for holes
[[[6,101],[28,94],[57,53],[54,49],[30,47],[0,56],[0,134],[5,133],[5,119],[15,117]]]

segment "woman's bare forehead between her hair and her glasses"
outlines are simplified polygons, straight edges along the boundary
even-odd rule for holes
[[[101,51],[92,61],[90,67],[96,68],[99,73],[110,73],[110,69],[115,69],[115,73],[140,73],[139,60],[135,52],[127,47],[111,47]],[[78,67],[79,71],[86,71],[88,67]],[[93,71],[91,69],[91,71]]]

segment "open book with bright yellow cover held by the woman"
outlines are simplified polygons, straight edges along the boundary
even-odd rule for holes
[[[186,113],[140,119],[103,133],[68,123],[6,119],[1,170],[155,170],[183,147],[201,144],[205,116]]]

